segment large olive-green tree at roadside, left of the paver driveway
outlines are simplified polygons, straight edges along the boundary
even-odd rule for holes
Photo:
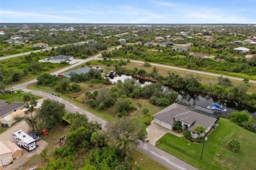
[[[140,124],[129,117],[114,118],[106,125],[106,135],[109,146],[115,147],[121,157],[129,158],[132,150],[144,141],[146,134]]]

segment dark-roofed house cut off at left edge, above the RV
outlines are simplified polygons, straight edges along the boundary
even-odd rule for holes
[[[3,100],[0,100],[0,101],[1,103],[4,102]],[[20,103],[20,102],[13,102],[8,105],[1,104],[0,117],[4,118],[5,116],[12,114],[13,112],[23,109],[24,106],[25,106],[25,103]]]

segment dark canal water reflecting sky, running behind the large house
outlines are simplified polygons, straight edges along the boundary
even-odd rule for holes
[[[121,75],[117,75],[114,78],[111,78],[110,81],[113,83],[116,83],[118,80],[124,81],[125,79],[128,79],[128,78],[132,78],[132,76],[121,74]],[[135,80],[137,80],[137,82],[140,83],[141,86],[145,86],[146,84],[151,83],[149,81],[143,81],[139,79],[135,79]],[[216,103],[216,104],[222,105],[224,108],[227,109],[226,112],[221,113],[223,116],[230,114],[234,110],[238,110],[238,111],[246,111],[250,113],[252,117],[256,120],[256,109],[247,105],[237,103],[234,100],[219,99],[219,98],[204,94],[202,92],[194,92],[186,89],[171,88],[169,86],[164,86],[164,88],[177,91],[179,93],[178,100],[181,101],[182,103],[186,103],[189,105],[198,106],[206,109],[207,109],[207,106],[210,106],[213,103]]]

